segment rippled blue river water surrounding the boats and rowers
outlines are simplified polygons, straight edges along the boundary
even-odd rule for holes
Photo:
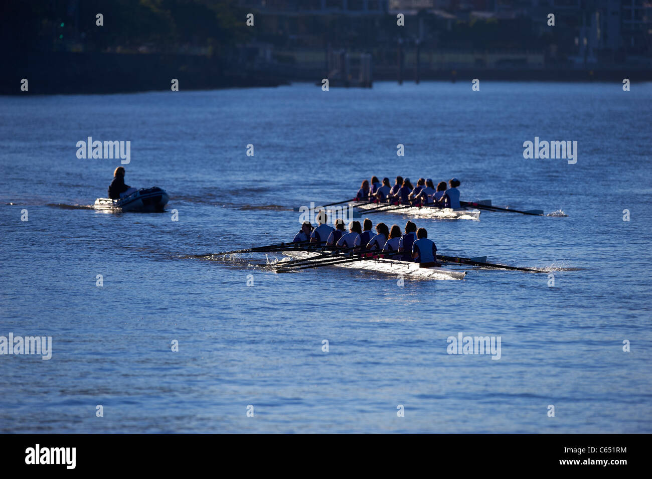
[[[491,82],[0,97],[0,336],[53,341],[50,360],[0,356],[0,431],[652,432],[651,100]],[[131,141],[126,182],[165,188],[166,212],[84,208],[119,165],[76,158],[88,136]],[[577,163],[524,159],[535,136],[578,141]],[[370,175],[563,210],[417,221],[443,254],[554,287],[185,257],[290,240],[293,207]],[[447,354],[459,332],[500,336],[501,358]]]

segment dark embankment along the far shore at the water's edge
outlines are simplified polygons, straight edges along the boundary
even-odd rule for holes
[[[124,54],[124,53],[33,53],[2,55],[7,75],[0,77],[0,95],[20,95],[21,80],[29,81],[27,94],[111,94],[145,91],[170,91],[171,80],[179,89],[213,90],[247,87],[278,87],[291,81],[319,83],[323,68],[300,65],[261,65],[241,67],[215,57],[199,55]],[[357,72],[351,72],[357,78]],[[403,81],[415,81],[415,68],[406,67]],[[619,68],[458,68],[426,70],[422,81],[609,81],[622,83],[652,81],[652,70],[638,66]],[[396,66],[374,66],[374,81],[397,81]],[[331,86],[336,87],[336,81]]]

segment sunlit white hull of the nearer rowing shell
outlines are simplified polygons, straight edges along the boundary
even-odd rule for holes
[[[307,251],[284,251],[283,254],[294,259],[306,259],[319,255],[319,253]],[[379,271],[388,274],[403,274],[404,276],[430,280],[464,280],[464,276],[466,276],[466,271],[454,271],[437,267],[421,268],[419,263],[399,261],[398,259],[364,259],[333,266]]]

